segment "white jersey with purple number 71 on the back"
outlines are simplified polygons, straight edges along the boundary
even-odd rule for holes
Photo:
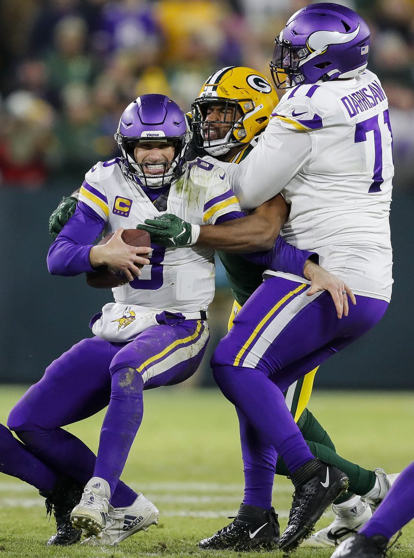
[[[257,147],[225,168],[242,208],[281,193],[285,240],[318,252],[356,294],[389,301],[392,132],[375,74],[291,89]]]

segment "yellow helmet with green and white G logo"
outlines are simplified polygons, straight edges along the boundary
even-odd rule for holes
[[[269,80],[260,72],[243,66],[229,66],[207,79],[191,105],[192,131],[198,148],[220,156],[232,147],[246,145],[269,123],[279,99]],[[213,104],[220,104],[223,118],[206,120]],[[220,139],[210,138],[213,124],[226,123],[228,132]]]

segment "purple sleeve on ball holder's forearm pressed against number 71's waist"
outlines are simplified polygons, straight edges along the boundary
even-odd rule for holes
[[[276,238],[273,248],[268,252],[244,254],[244,257],[250,262],[259,263],[271,270],[293,273],[299,277],[303,277],[303,268],[307,259],[311,259],[314,263],[319,262],[316,252],[300,250],[285,242],[280,235]]]

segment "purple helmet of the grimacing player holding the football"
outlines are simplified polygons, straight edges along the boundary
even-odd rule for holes
[[[121,114],[115,134],[126,176],[140,185],[158,188],[181,176],[187,167],[186,151],[191,140],[186,115],[177,103],[166,95],[141,95]],[[145,174],[145,165],[137,163],[134,149],[137,142],[173,142],[172,161],[157,163],[163,166],[159,175]]]

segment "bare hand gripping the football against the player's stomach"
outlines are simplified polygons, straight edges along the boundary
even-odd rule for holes
[[[147,256],[152,248],[148,246],[129,246],[121,238],[124,229],[118,229],[113,237],[106,244],[94,246],[89,255],[92,267],[106,265],[120,270],[124,273],[128,281],[133,281],[134,277],[141,275],[138,266],[149,264]]]

